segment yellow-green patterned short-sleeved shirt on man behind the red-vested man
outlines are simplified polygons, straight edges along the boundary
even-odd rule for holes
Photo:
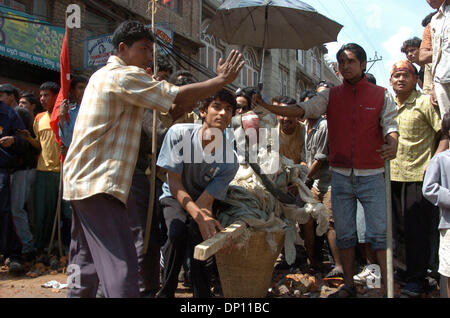
[[[431,159],[436,133],[441,129],[430,96],[413,91],[403,105],[398,103],[397,156],[391,161],[391,180],[421,182]]]

